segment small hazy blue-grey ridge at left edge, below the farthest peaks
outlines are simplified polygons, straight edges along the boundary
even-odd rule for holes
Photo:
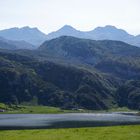
[[[12,41],[0,37],[0,49],[17,50],[17,49],[36,49],[36,46],[25,41]]]

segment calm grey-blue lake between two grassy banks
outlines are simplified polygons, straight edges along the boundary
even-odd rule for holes
[[[74,128],[140,124],[127,113],[0,114],[0,129]]]

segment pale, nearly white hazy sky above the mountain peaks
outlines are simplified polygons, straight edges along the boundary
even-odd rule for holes
[[[48,33],[65,24],[84,31],[114,25],[140,34],[140,0],[0,0],[0,29],[28,25]]]

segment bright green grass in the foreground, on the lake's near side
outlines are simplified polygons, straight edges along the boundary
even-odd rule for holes
[[[3,130],[0,140],[140,140],[140,125],[49,130]]]

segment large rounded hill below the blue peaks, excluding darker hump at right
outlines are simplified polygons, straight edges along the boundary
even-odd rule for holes
[[[38,50],[50,57],[90,65],[96,65],[108,58],[140,58],[140,48],[121,41],[95,41],[70,36],[46,41]]]

